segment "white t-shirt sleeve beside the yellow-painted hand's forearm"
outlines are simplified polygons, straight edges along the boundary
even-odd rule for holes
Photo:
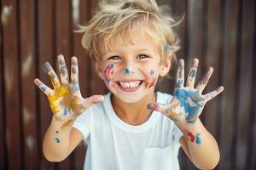
[[[86,141],[90,136],[90,111],[84,111],[76,121],[73,123],[73,127],[78,129],[83,134],[83,139]]]

